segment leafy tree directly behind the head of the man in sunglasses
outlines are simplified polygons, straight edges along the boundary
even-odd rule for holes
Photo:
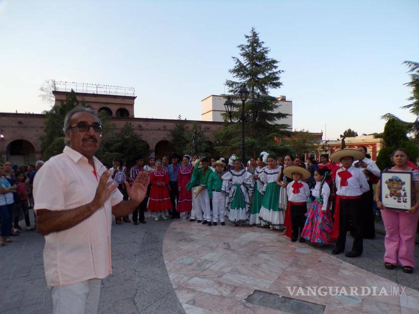
[[[44,160],[48,160],[51,156],[62,152],[62,149],[64,148],[64,132],[62,131],[64,117],[68,111],[79,105],[84,105],[84,103],[79,103],[76,93],[72,90],[65,97],[65,102],[61,101],[60,105],[54,105],[51,110],[43,112],[46,119],[44,134],[40,139],[42,158]],[[62,144],[59,144],[59,140],[57,138],[62,139]],[[50,145],[51,147],[49,147]]]

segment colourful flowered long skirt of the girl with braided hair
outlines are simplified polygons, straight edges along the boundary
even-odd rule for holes
[[[330,234],[332,233],[330,208],[327,207],[323,211],[321,210],[322,204],[322,200],[318,198],[314,200],[306,214],[306,224],[303,232],[301,232],[302,238],[318,245],[329,244],[331,242]]]

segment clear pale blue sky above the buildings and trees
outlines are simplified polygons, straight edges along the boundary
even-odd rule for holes
[[[49,109],[47,79],[135,88],[136,117],[200,119],[252,26],[285,72],[294,128],[382,131],[419,61],[419,2],[0,0],[0,111]]]

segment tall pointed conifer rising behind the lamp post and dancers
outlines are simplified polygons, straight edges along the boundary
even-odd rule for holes
[[[230,94],[236,95],[237,90],[245,84],[249,89],[249,99],[245,104],[245,115],[252,115],[257,119],[247,119],[245,130],[245,143],[247,155],[258,155],[269,144],[274,144],[274,137],[281,137],[287,134],[289,125],[279,123],[280,119],[287,117],[287,114],[276,112],[277,99],[269,95],[269,91],[280,88],[281,73],[278,69],[278,61],[269,58],[270,49],[264,46],[259,34],[254,28],[249,35],[245,35],[246,43],[239,45],[240,57],[233,57],[234,67],[229,70],[234,80],[227,80],[225,85]],[[252,99],[260,94],[263,103],[256,108]],[[228,96],[228,95],[224,95]],[[233,96],[237,102],[237,96]],[[241,103],[234,106],[233,119],[241,116]],[[225,124],[215,133],[217,146],[215,147],[223,155],[238,153],[241,147],[241,125],[240,123],[228,123],[227,114],[223,115]]]

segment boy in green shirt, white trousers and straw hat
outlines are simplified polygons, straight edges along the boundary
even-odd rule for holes
[[[220,217],[221,225],[225,225],[224,211],[226,210],[226,193],[221,191],[223,186],[224,167],[226,164],[221,160],[211,165],[215,172],[209,175],[208,178],[208,195],[209,199],[213,200],[213,224],[217,225]]]

